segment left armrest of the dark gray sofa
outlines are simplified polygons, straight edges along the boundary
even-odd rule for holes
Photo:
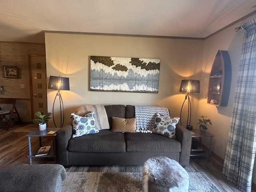
[[[68,140],[72,137],[72,122],[57,131],[57,159],[63,166],[69,165]]]

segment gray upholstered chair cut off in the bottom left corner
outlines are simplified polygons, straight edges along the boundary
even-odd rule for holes
[[[59,164],[17,165],[0,168],[1,192],[61,192],[66,170]]]

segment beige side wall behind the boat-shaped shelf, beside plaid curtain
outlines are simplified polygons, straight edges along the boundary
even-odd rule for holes
[[[200,94],[200,100],[198,105],[198,116],[208,116],[212,120],[212,126],[208,128],[208,131],[215,135],[213,139],[212,150],[215,154],[224,159],[226,152],[226,145],[228,140],[228,132],[230,128],[231,114],[234,103],[234,92],[236,87],[236,80],[238,75],[238,66],[240,63],[242,43],[244,38],[244,31],[239,30],[235,32],[234,28],[238,27],[245,22],[248,22],[252,18],[255,18],[256,14],[250,16],[240,23],[237,23],[226,30],[204,40],[204,53],[202,60],[202,75],[201,81],[208,81],[209,73],[211,70],[212,62],[217,51],[228,50],[231,65],[232,65],[232,82],[230,87],[230,96],[227,107],[215,107],[206,104],[207,97],[207,85],[205,87],[201,85],[201,90],[204,90]],[[203,141],[208,145],[208,140]],[[256,173],[253,173],[252,181],[256,183]]]

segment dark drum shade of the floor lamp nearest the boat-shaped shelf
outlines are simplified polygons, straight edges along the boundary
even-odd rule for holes
[[[199,80],[182,80],[180,84],[180,92],[184,93],[200,93]]]

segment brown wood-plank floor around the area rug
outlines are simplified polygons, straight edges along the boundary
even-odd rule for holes
[[[22,165],[28,162],[28,138],[26,134],[38,128],[38,125],[15,126],[8,131],[0,129],[0,166]],[[52,140],[42,138],[43,145],[50,145]],[[31,138],[32,150],[39,148],[37,137]],[[32,158],[33,164],[54,164],[53,158]],[[240,192],[236,185],[222,174],[222,164],[215,158],[210,162],[205,157],[190,157],[188,172],[204,172],[221,192]],[[67,172],[142,172],[142,166],[71,166]],[[255,192],[255,190],[252,190]]]

